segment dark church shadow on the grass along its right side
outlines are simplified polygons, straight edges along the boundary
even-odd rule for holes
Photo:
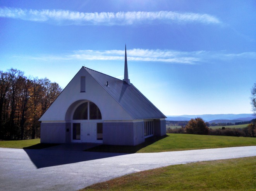
[[[153,144],[154,142],[164,139],[168,135],[162,137],[153,136],[145,139],[144,143],[141,143],[136,146],[119,146],[119,145],[98,145],[96,147],[86,149],[85,151],[89,152],[112,152],[112,153],[136,153],[138,150],[143,149],[144,147]]]

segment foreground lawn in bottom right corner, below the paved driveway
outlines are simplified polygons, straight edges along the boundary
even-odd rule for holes
[[[81,191],[255,191],[256,157],[172,165],[137,172]]]

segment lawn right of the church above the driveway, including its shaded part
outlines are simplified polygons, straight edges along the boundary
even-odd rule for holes
[[[145,143],[136,146],[100,145],[88,151],[140,153],[256,145],[256,138],[253,137],[167,134],[161,138],[150,137]]]

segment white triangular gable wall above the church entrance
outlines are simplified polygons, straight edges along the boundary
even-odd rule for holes
[[[84,93],[80,92],[81,76],[86,76],[86,92]],[[71,118],[67,119],[66,112],[72,103],[78,100],[94,102],[100,108],[102,120],[132,120],[122,106],[83,67],[39,120],[42,122],[69,121]]]

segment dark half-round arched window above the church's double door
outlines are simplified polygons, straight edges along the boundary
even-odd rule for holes
[[[85,102],[76,108],[73,120],[88,120],[88,110],[90,120],[101,119],[101,112],[98,106],[93,102]]]

